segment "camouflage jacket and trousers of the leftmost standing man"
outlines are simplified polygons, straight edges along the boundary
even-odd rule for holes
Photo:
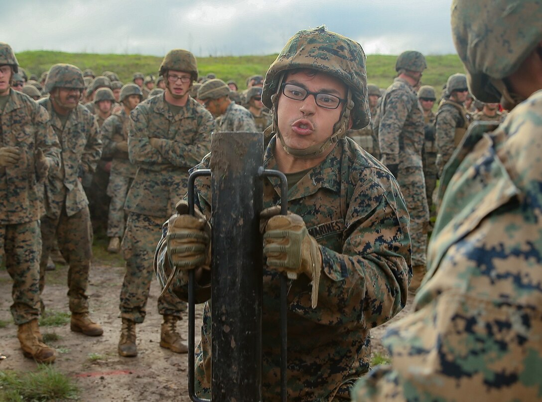
[[[40,315],[41,234],[43,212],[36,173],[36,152],[49,163],[49,172],[60,168],[60,144],[49,115],[28,96],[10,90],[0,112],[0,148],[12,146],[21,158],[11,167],[0,167],[0,266],[13,280],[11,314],[15,325]]]

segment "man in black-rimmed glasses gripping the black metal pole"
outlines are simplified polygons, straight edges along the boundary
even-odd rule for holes
[[[327,93],[330,87],[337,98]],[[308,90],[312,93],[308,94]],[[304,98],[304,91],[308,97]],[[298,100],[289,99],[291,96]],[[300,274],[291,282],[288,296],[288,400],[346,400],[353,380],[369,370],[369,328],[401,310],[411,277],[409,217],[397,181],[369,153],[345,138],[350,125],[354,129],[364,127],[370,119],[363,49],[325,27],[302,30],[270,66],[262,99],[266,106],[278,111],[273,113],[278,118],[273,122],[274,137],[263,166],[287,174],[288,210],[292,212],[289,217],[270,218],[269,213],[264,239],[276,225],[297,222],[308,230],[303,242],[310,242],[313,250],[301,251],[301,259],[314,261],[314,269],[309,268],[309,272],[288,265],[288,269]],[[343,103],[344,107],[339,108]],[[337,108],[326,108],[330,105]],[[300,138],[293,128],[287,128],[293,119],[315,122],[314,132],[306,142],[296,143]],[[321,124],[317,127],[317,123]],[[302,129],[302,125],[295,127]],[[319,129],[322,125],[326,128]],[[300,148],[313,141],[317,144]],[[293,163],[294,167],[286,168],[285,158],[286,165]],[[208,165],[206,157],[199,167]],[[303,170],[299,171],[299,167]],[[209,180],[200,180],[197,205],[204,218],[210,220]],[[276,180],[264,180],[264,207],[280,203],[276,186]],[[168,239],[182,239],[177,235],[187,218],[208,224],[207,219],[172,217],[157,249],[157,271],[167,273],[170,261],[198,267],[197,261],[183,257],[176,245],[172,249],[167,245]],[[287,234],[276,241],[291,242],[291,228],[284,226]],[[283,273],[277,268],[278,261],[272,261],[273,252],[267,249],[274,245],[272,239],[264,240],[264,254],[268,255],[263,267],[262,400],[276,400],[280,393],[277,323],[279,278]],[[288,248],[278,258],[296,254],[294,249],[298,250]],[[203,261],[207,254],[201,253],[198,258]],[[186,297],[185,277],[179,275],[171,288],[180,297]],[[197,297],[203,302],[209,288],[202,282],[199,285],[202,288]],[[210,319],[206,303],[202,340],[196,349],[196,391],[203,397],[210,393]]]

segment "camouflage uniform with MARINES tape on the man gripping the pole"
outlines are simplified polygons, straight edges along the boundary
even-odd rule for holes
[[[278,168],[275,147],[276,137],[264,155],[265,168]],[[208,166],[206,157],[198,167]],[[196,183],[196,202],[210,220],[209,179]],[[278,180],[264,179],[263,207],[279,205],[279,193]],[[388,321],[406,302],[412,274],[409,216],[401,190],[376,159],[344,138],[320,165],[291,186],[288,210],[304,219],[320,245],[324,267],[315,309],[308,278],[301,275],[290,283],[288,400],[348,398],[353,380],[369,369],[370,328]],[[159,265],[167,258],[165,252],[164,241],[157,249]],[[280,393],[280,274],[265,266],[263,270],[262,400],[276,400]],[[176,292],[186,300],[182,285],[178,283]],[[202,341],[196,349],[196,387],[205,397],[210,386],[210,325],[206,304]]]

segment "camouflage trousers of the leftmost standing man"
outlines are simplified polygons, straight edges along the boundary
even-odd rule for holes
[[[17,326],[40,316],[40,254],[40,221],[0,225],[0,266],[5,258],[13,280],[11,315]]]

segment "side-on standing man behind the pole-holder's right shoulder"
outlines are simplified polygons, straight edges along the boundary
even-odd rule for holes
[[[429,207],[423,176],[422,150],[425,141],[423,111],[414,87],[427,68],[417,51],[404,51],[395,69],[398,77],[386,90],[379,110],[380,158],[397,178],[410,213],[412,269],[415,291],[425,274]],[[376,127],[375,127],[376,129]]]

